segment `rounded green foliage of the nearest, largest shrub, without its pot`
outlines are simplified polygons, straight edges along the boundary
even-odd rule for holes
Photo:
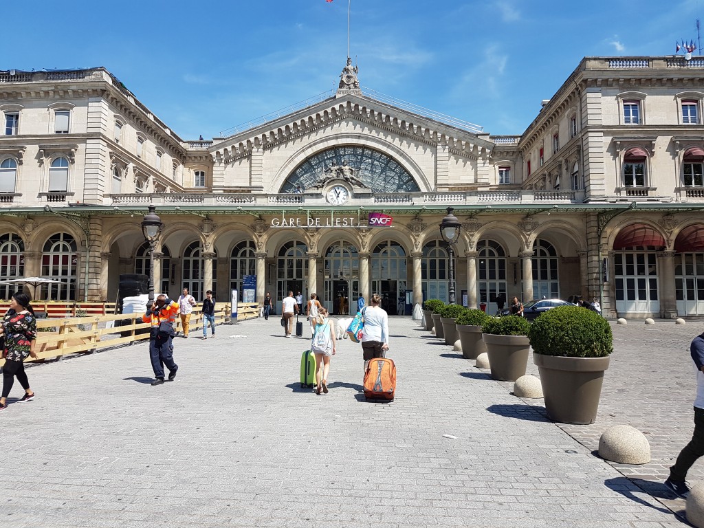
[[[528,333],[536,354],[568,358],[602,358],[613,352],[611,327],[598,313],[579,306],[559,306],[543,313]]]

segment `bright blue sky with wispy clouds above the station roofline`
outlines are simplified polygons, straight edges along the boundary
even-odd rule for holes
[[[674,54],[703,15],[704,0],[351,0],[351,56],[363,88],[521,134],[582,57]],[[30,31],[0,70],[104,66],[183,139],[337,87],[347,54],[347,0],[13,1],[3,18]]]

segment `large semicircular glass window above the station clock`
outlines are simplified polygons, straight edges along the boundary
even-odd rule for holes
[[[362,182],[374,192],[420,191],[413,176],[386,154],[366,146],[336,146],[311,156],[298,165],[287,178],[281,192],[294,192],[316,187],[332,177],[342,177],[337,168],[348,165],[348,175]]]

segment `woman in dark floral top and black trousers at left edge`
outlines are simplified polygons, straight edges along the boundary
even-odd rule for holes
[[[30,382],[25,372],[23,361],[27,356],[37,359],[34,346],[37,344],[37,320],[27,294],[14,294],[10,301],[10,309],[0,323],[0,337],[4,337],[2,357],[5,364],[2,367],[2,396],[0,396],[0,410],[7,408],[7,397],[10,394],[15,376],[25,389],[25,395],[18,401],[25,402],[34,398],[30,389]]]

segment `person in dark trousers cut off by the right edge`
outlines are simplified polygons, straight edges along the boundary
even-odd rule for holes
[[[689,444],[677,455],[677,460],[670,467],[670,477],[665,486],[679,498],[686,498],[689,487],[684,479],[689,468],[700,456],[704,455],[704,334],[695,337],[689,345],[689,354],[696,367],[697,396],[694,399],[694,432]]]

